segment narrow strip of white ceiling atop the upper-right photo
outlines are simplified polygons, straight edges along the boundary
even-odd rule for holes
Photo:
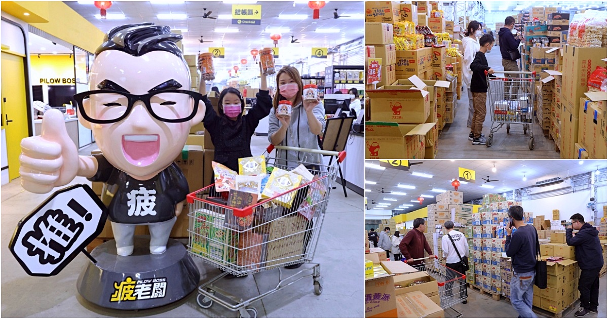
[[[531,7],[557,7],[558,10],[605,8],[606,1],[482,1],[486,10],[520,12]]]

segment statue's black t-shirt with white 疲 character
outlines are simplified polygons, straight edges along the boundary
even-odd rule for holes
[[[91,182],[105,182],[114,197],[108,207],[110,221],[120,224],[164,222],[175,216],[175,207],[189,193],[188,181],[176,163],[148,180],[137,180],[112,166],[102,154]]]

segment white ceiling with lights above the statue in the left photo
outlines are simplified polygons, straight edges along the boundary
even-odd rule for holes
[[[182,29],[185,54],[208,52],[209,47],[226,47],[226,58],[214,60],[216,70],[229,70],[238,65],[241,70],[249,67],[255,69],[258,74],[258,66],[252,63],[249,52],[251,49],[260,50],[263,47],[273,46],[268,29],[286,29],[281,32],[282,39],[278,41],[280,58],[277,60],[277,65],[293,63],[300,58],[308,57],[311,47],[333,47],[364,35],[362,1],[331,1],[320,9],[319,19],[313,19],[313,10],[309,9],[308,1],[257,1],[256,4],[262,6],[260,26],[233,25],[230,17],[232,2],[173,1],[176,3],[167,4],[170,2],[167,1],[164,4],[156,4],[151,1],[112,1],[112,6],[107,10],[108,15],[122,13],[126,19],[105,20],[95,18],[95,15],[99,14],[99,9],[95,8],[92,2],[66,1],[65,3],[103,32],[123,24],[154,22],[154,24],[170,26],[171,29]],[[202,16],[203,8],[206,8],[207,12],[212,11],[211,16],[219,15],[219,18],[192,18]],[[350,18],[332,19],[334,9],[338,9],[339,15]],[[163,13],[182,13],[188,18],[172,20],[157,18]],[[297,20],[278,19],[282,14],[298,14],[306,17]],[[215,32],[226,28],[238,29],[239,32]],[[339,33],[316,33],[317,28],[338,29]],[[213,42],[199,43],[201,35],[204,40]],[[300,43],[292,44],[292,35]],[[243,58],[247,59],[246,66],[240,63]]]

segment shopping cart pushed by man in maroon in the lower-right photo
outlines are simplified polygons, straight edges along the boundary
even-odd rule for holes
[[[426,261],[427,259],[430,259],[430,261]],[[428,273],[429,276],[437,280],[441,309],[447,310],[452,308],[455,304],[466,300],[466,295],[465,297],[460,297],[461,289],[466,292],[466,275],[459,273],[446,265],[440,264],[437,259],[432,259],[432,257],[414,259],[414,261],[421,260],[425,260],[426,262],[412,265],[412,267],[421,272]],[[407,263],[407,261],[404,262]],[[462,317],[462,314],[458,312],[458,310],[455,310],[454,308],[451,310],[454,310],[454,312],[457,313],[456,318]]]

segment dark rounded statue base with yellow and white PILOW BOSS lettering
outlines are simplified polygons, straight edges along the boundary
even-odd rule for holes
[[[139,310],[165,306],[186,297],[200,280],[184,245],[167,242],[161,255],[150,253],[150,236],[135,236],[133,254],[120,256],[114,240],[97,246],[80,273],[78,293],[101,307]]]

